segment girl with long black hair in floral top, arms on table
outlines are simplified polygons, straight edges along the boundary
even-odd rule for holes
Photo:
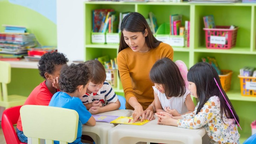
[[[158,124],[190,129],[204,127],[210,143],[239,143],[240,134],[236,126],[239,118],[221,87],[216,70],[209,63],[199,62],[190,68],[187,78],[191,94],[199,100],[196,109],[177,117],[166,112],[156,113]]]

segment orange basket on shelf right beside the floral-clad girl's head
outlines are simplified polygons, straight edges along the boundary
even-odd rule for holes
[[[222,85],[222,88],[225,92],[228,92],[230,89],[231,84],[231,77],[233,71],[230,70],[221,70],[222,75],[219,75],[220,78],[220,84]]]

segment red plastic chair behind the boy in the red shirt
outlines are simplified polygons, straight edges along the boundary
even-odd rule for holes
[[[25,144],[18,139],[18,136],[13,126],[17,123],[18,118],[20,117],[20,108],[21,106],[11,107],[9,109],[6,109],[2,114],[1,125],[4,132],[6,144]]]

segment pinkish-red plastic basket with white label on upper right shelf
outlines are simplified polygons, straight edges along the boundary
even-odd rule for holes
[[[231,49],[236,45],[238,27],[216,26],[216,28],[203,28],[205,31],[206,48]]]

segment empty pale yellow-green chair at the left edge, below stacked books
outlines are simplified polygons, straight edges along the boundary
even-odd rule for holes
[[[11,65],[8,62],[0,61],[0,106],[6,109],[23,105],[27,99],[26,96],[8,95],[7,84],[11,82]]]

